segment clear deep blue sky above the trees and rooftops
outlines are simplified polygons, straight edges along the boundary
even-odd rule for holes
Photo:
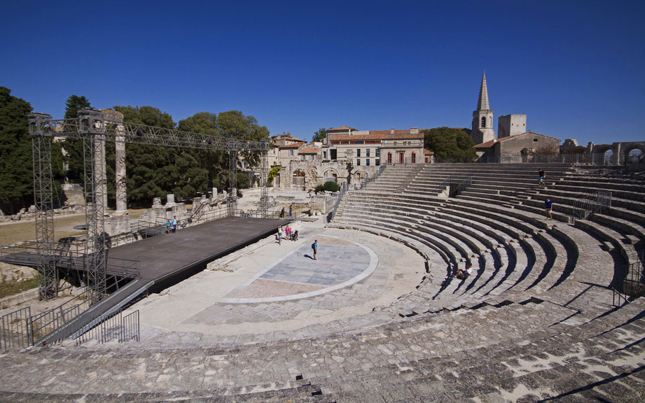
[[[470,127],[497,118],[586,145],[645,140],[645,1],[4,1],[0,85],[62,118],[237,109],[271,134]]]

